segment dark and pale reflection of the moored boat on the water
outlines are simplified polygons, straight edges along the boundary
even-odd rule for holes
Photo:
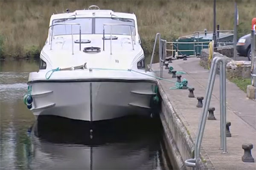
[[[142,120],[143,119],[143,120]],[[32,169],[171,169],[155,119],[90,123],[41,116],[32,127]]]

